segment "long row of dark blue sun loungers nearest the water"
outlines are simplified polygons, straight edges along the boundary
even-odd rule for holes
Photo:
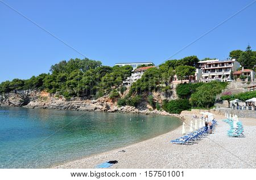
[[[217,121],[215,119],[213,119],[212,121],[212,126],[213,126],[213,130],[215,128],[215,126],[217,125]],[[209,128],[207,127],[202,127],[194,132],[191,132],[187,135],[184,135],[180,138],[177,138],[175,140],[171,140],[171,143],[174,144],[192,144],[197,142],[197,140],[200,140],[201,138],[203,138],[205,135],[208,135],[209,132]]]

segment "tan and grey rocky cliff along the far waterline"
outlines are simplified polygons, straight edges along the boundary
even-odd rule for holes
[[[161,94],[154,94],[156,101],[162,101]],[[142,102],[141,106],[118,107],[117,102],[110,100],[108,96],[103,96],[97,100],[81,100],[72,98],[66,100],[64,97],[50,94],[45,91],[16,91],[0,95],[0,106],[15,106],[23,108],[43,108],[43,109],[62,109],[62,110],[80,110],[89,112],[120,112],[120,113],[143,113],[143,114],[170,114],[164,110],[153,110],[147,102]]]

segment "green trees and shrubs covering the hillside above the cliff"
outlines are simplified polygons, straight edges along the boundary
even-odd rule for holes
[[[255,52],[250,46],[246,51],[235,50],[230,57],[238,60],[246,68],[254,68]],[[208,59],[208,58],[206,58]],[[181,110],[196,108],[210,108],[214,105],[216,95],[226,87],[227,83],[187,83],[179,84],[172,89],[172,80],[177,75],[179,80],[195,75],[199,59],[193,55],[182,59],[173,59],[149,68],[141,79],[131,85],[129,92],[122,85],[122,81],[131,75],[131,66],[102,66],[100,61],[92,59],[70,59],[52,65],[49,73],[32,76],[30,79],[7,80],[0,84],[0,93],[16,92],[20,90],[38,90],[64,96],[67,100],[73,97],[81,99],[96,99],[104,95],[119,106],[135,106],[146,102],[152,108],[164,109],[170,113],[180,113]],[[176,91],[177,100],[159,101],[152,96],[155,92],[171,95]],[[125,93],[126,96],[123,94]],[[251,95],[241,95],[251,97]],[[254,95],[253,95],[254,96]],[[242,98],[241,98],[242,99]]]

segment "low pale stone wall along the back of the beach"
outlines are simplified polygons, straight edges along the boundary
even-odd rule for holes
[[[256,120],[256,111],[255,110],[237,110],[237,109],[231,109],[231,108],[216,108],[216,109],[210,109],[210,112],[213,114],[221,114],[225,115],[225,113],[232,113],[236,114],[239,117],[243,118],[255,118]]]

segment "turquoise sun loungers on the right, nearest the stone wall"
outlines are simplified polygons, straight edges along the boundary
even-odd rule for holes
[[[233,119],[227,118],[224,119],[224,122],[228,123],[230,129],[228,130],[229,137],[244,137],[243,135],[243,125],[241,121],[233,121]],[[236,127],[234,127],[234,123],[236,123]]]

